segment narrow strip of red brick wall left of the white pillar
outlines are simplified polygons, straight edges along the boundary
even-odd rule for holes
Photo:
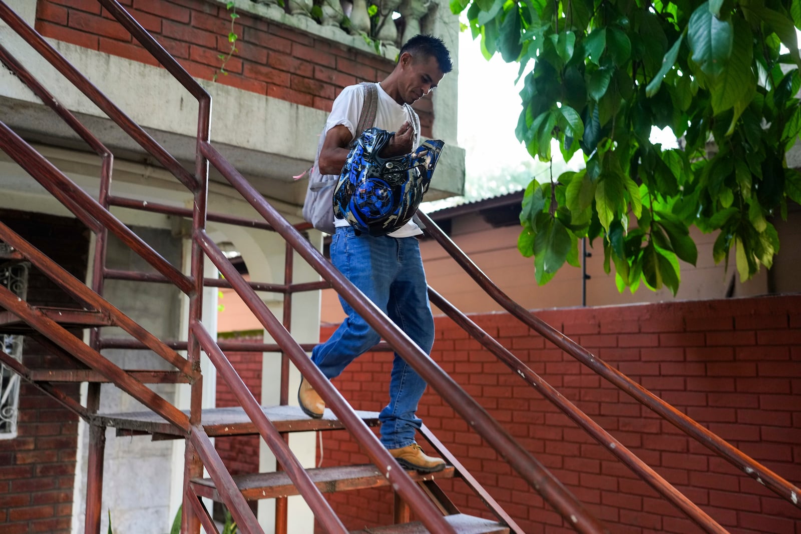
[[[263,340],[262,336],[226,339],[231,343],[261,343]],[[261,353],[229,351],[225,355],[256,400],[260,401]],[[217,406],[219,408],[241,406],[231,388],[227,387],[225,381],[219,376],[217,377]],[[232,474],[255,473],[259,472],[259,440],[259,436],[219,437],[215,438],[215,447]]]

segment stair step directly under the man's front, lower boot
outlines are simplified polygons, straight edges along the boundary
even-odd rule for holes
[[[308,476],[320,488],[320,492],[334,493],[353,489],[380,488],[389,484],[384,474],[375,465],[346,465],[332,468],[308,469]],[[441,480],[453,478],[452,466],[436,473],[409,471],[413,480]],[[298,490],[286,472],[253,473],[233,477],[236,487],[245,499],[275,499],[298,495]],[[219,500],[214,481],[195,479],[191,481],[195,493],[211,500]]]

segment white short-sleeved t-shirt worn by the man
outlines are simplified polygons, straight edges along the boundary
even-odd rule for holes
[[[410,117],[406,111],[407,106],[402,106],[387,94],[377,83],[378,87],[378,106],[376,110],[376,122],[373,126],[381,130],[397,131],[404,122],[409,121],[409,124],[414,127],[414,124],[419,123],[415,118]],[[359,123],[359,116],[361,108],[364,105],[364,88],[360,85],[345,87],[340,95],[334,100],[331,109],[331,114],[328,115],[328,121],[325,123],[325,134],[334,126],[340,124],[346,126],[350,130],[351,135],[356,135],[356,125]],[[414,113],[414,110],[412,110]],[[417,115],[417,114],[415,114]],[[323,140],[324,142],[324,140]],[[420,145],[420,132],[414,132],[413,146]],[[322,143],[320,144],[322,147]],[[335,227],[347,227],[348,221],[345,219],[334,219]],[[403,227],[398,228],[396,231],[388,234],[390,237],[411,237],[412,235],[420,235],[423,231],[417,224],[409,221]]]

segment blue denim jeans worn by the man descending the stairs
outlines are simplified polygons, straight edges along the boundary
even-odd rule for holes
[[[417,238],[356,235],[352,227],[339,227],[331,240],[331,259],[418,347],[430,353],[434,319]],[[340,302],[348,317],[328,341],[312,350],[312,361],[329,380],[380,341],[380,335],[342,297]],[[384,447],[415,443],[415,432],[422,424],[415,412],[423,391],[425,380],[395,354],[389,377],[389,404],[379,416]]]

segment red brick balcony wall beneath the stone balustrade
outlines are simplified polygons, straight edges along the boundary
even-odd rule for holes
[[[195,78],[211,80],[231,50],[231,18],[225,6],[210,0],[121,0]],[[281,26],[239,11],[235,33],[238,51],[217,82],[330,111],[344,86],[374,82],[392,70],[393,62],[327,39]],[[38,0],[36,30],[46,37],[107,54],[155,65],[155,59],[97,0]],[[431,135],[433,107],[429,97],[415,104],[421,130]]]

